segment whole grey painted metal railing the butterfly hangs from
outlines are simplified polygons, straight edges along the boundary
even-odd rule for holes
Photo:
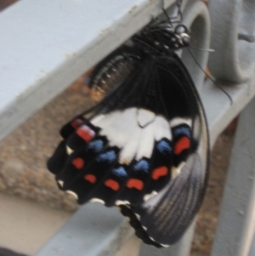
[[[165,8],[173,2],[165,1]],[[210,15],[207,6],[198,0],[185,0],[183,4],[184,22],[191,27],[192,43],[209,48],[211,42],[216,52],[210,56],[210,70],[214,77],[228,82],[228,85],[220,84],[233,100],[231,105],[210,80],[203,82],[202,71],[184,51],[184,63],[201,89],[211,145],[244,109],[229,166],[213,256],[255,254],[252,245],[255,225],[255,101],[252,100],[255,95],[255,3],[252,2],[211,0]],[[162,1],[158,0],[22,0],[4,11],[0,16],[0,35],[3,35],[0,48],[4,49],[0,58],[1,138],[147,24],[151,16],[160,14],[161,8]],[[207,51],[194,54],[205,67]],[[178,244],[166,249],[143,244],[140,255],[189,255],[193,231],[194,225]],[[133,230],[116,209],[87,204],[37,256],[114,255],[132,234]]]

